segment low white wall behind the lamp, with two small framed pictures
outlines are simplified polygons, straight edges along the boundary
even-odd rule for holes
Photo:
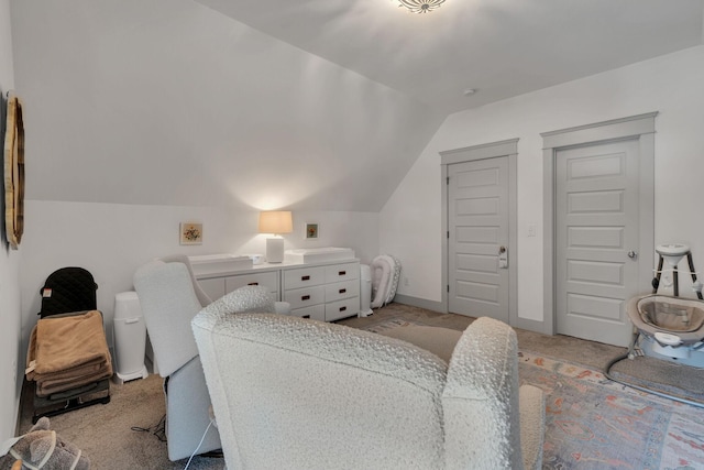
[[[378,215],[371,212],[294,211],[294,232],[286,249],[349,247],[362,262],[378,254]],[[28,200],[22,242],[22,339],[26,345],[41,307],[40,288],[64,266],[90,271],[98,284],[98,308],[112,343],[114,295],[132,291],[134,271],[167,254],[264,253],[257,234],[258,212],[198,206],[139,206]],[[179,222],[204,225],[201,245],[180,245]],[[304,225],[317,222],[319,239],[305,240]]]

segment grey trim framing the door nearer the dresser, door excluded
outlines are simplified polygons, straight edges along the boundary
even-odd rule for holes
[[[518,270],[517,270],[517,168],[518,168],[518,139],[509,139],[499,142],[492,142],[481,145],[465,146],[461,149],[446,150],[440,152],[440,188],[441,197],[441,240],[442,240],[442,310],[449,311],[449,204],[448,204],[448,165],[477,160],[497,159],[506,156],[508,160],[508,323],[510,326],[521,328],[518,318]]]

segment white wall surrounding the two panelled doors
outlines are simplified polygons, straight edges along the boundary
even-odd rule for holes
[[[656,244],[690,244],[704,271],[704,46],[450,116],[381,211],[382,252],[398,256],[409,286],[441,300],[439,152],[519,138],[518,316],[543,318],[541,132],[659,111],[656,119]],[[536,225],[537,237],[527,237]],[[684,266],[683,266],[684,267]],[[686,267],[685,267],[686,269]],[[681,276],[681,293],[689,276]],[[403,283],[402,283],[403,284]],[[649,286],[642,286],[644,292]]]

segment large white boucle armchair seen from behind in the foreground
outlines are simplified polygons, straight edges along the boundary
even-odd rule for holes
[[[209,307],[193,328],[230,469],[541,467],[542,392],[519,392],[516,335],[503,323],[474,321],[449,364],[295,317]]]

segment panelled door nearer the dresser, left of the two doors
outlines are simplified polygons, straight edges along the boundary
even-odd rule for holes
[[[448,176],[449,311],[508,323],[508,157],[448,165]]]

